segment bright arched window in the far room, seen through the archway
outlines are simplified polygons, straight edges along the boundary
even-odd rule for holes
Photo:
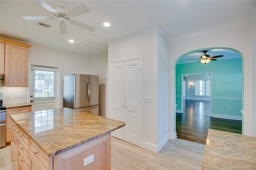
[[[195,95],[196,96],[210,96],[211,95],[211,83],[210,80],[197,80],[195,82]]]

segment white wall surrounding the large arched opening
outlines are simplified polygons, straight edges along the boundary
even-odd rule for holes
[[[253,30],[254,27],[254,30]],[[242,65],[244,74],[243,87],[243,110],[244,110],[244,134],[256,136],[256,120],[255,120],[255,21],[254,26],[240,27],[237,29],[230,29],[212,33],[208,35],[201,35],[188,39],[172,41],[169,43],[169,67],[170,67],[170,129],[169,133],[176,131],[176,113],[172,106],[176,104],[175,99],[175,65],[177,59],[196,49],[210,48],[210,47],[227,47],[236,49],[242,54]],[[254,35],[254,36],[252,36]],[[207,41],[206,41],[207,40]],[[252,64],[254,63],[254,64]],[[254,71],[254,72],[253,72]]]

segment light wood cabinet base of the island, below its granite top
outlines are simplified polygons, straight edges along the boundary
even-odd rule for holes
[[[67,150],[48,156],[23,131],[12,122],[11,160],[14,170],[110,170],[110,133]],[[94,156],[94,161],[85,165],[84,159]]]

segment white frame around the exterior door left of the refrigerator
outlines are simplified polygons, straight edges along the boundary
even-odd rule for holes
[[[30,88],[33,88],[32,87],[32,81],[33,81],[33,78],[31,75],[31,66],[32,65],[37,65],[37,66],[45,66],[45,67],[55,67],[55,68],[58,68],[58,73],[56,74],[56,98],[55,98],[55,105],[53,106],[54,108],[60,108],[62,107],[62,102],[63,102],[63,99],[62,99],[62,86],[61,86],[61,82],[62,82],[62,78],[61,78],[61,66],[57,66],[57,65],[50,65],[50,64],[41,64],[41,63],[32,63],[32,62],[29,62],[28,63],[28,88],[27,88],[27,97],[26,97],[26,101],[27,103],[29,104],[32,104],[32,102],[30,102],[30,92],[31,92],[31,89]],[[61,95],[62,94],[62,95]],[[62,99],[62,100],[61,100]]]

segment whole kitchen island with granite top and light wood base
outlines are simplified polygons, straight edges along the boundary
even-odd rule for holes
[[[110,132],[125,126],[69,108],[10,118],[14,169],[110,169]]]

